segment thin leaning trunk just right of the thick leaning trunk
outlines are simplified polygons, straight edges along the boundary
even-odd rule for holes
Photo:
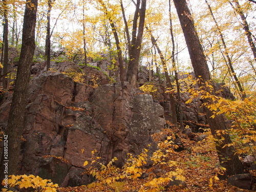
[[[205,3],[207,4],[207,6],[208,6],[208,8],[209,8],[211,17],[212,17],[212,19],[214,20],[215,25],[216,25],[216,27],[217,27],[217,30],[218,30],[218,32],[219,32],[219,34],[220,34],[221,41],[222,41],[222,44],[223,44],[223,47],[224,47],[224,53],[225,53],[225,56],[227,57],[229,69],[231,70],[231,74],[233,75],[234,80],[236,80],[236,83],[237,83],[238,88],[239,88],[239,91],[240,91],[240,92],[239,92],[239,95],[241,96],[242,99],[245,99],[246,94],[245,94],[245,92],[244,92],[244,90],[243,90],[243,88],[242,88],[242,85],[241,85],[241,83],[240,83],[240,81],[239,81],[239,79],[238,79],[238,77],[237,77],[236,72],[234,72],[233,65],[232,65],[232,61],[231,61],[231,58],[230,58],[230,56],[229,56],[229,54],[228,54],[226,42],[225,42],[225,40],[224,40],[224,37],[223,37],[223,34],[222,34],[222,32],[221,32],[220,26],[218,25],[217,20],[215,19],[214,13],[212,12],[211,7],[210,7],[210,5],[208,4],[207,0],[205,0]]]

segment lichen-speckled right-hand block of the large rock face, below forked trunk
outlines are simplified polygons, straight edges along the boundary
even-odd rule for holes
[[[127,82],[97,88],[90,102],[95,121],[111,140],[108,160],[117,157],[119,166],[123,165],[127,153],[139,154],[152,143],[151,135],[159,132],[164,124],[160,104]]]

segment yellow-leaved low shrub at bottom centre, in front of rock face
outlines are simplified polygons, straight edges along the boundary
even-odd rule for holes
[[[167,137],[168,140],[163,141],[166,144],[161,145],[161,149],[153,154],[151,160],[154,162],[155,166],[159,166],[161,168],[173,168],[177,166],[177,162],[170,160],[166,161],[164,158],[167,155],[166,153],[173,152],[170,148],[175,147],[170,140],[172,136],[174,135],[170,134],[170,136]],[[144,167],[144,165],[147,164],[147,152],[148,150],[144,148],[144,150],[136,157],[132,154],[127,154],[128,159],[124,166],[119,168],[115,166],[115,161],[118,160],[116,157],[105,165],[98,162],[99,158],[95,157],[95,151],[92,151],[92,166],[87,170],[87,173],[95,177],[96,182],[89,184],[88,187],[103,190],[105,186],[108,186],[111,191],[121,191],[125,182],[137,182],[139,177],[147,173],[147,169]],[[163,166],[164,164],[165,166]],[[164,185],[168,184],[168,182],[172,180],[173,176],[183,181],[185,178],[181,174],[181,169],[176,168],[174,170],[168,170],[166,173],[163,172],[159,178],[148,177],[146,182],[141,185],[140,188],[136,188],[134,186],[134,189],[137,191],[160,191],[164,189]]]

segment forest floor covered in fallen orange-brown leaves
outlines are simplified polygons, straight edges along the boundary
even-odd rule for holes
[[[183,176],[185,177],[185,186],[172,186],[162,191],[215,191],[215,192],[246,192],[256,191],[256,183],[252,184],[250,190],[241,189],[236,186],[229,185],[227,180],[216,180],[215,176],[219,173],[219,160],[217,153],[215,152],[213,145],[210,142],[205,143],[196,142],[190,140],[186,135],[179,133],[179,130],[175,130],[178,136],[183,142],[185,150],[181,152],[173,153],[169,157],[170,160],[177,162],[177,168],[183,170]],[[197,133],[196,135],[200,135]],[[205,133],[203,133],[205,134]],[[242,158],[241,158],[242,160]],[[250,173],[256,176],[256,171],[250,171]],[[212,179],[211,179],[212,178]],[[217,178],[218,179],[218,178]],[[212,180],[212,186],[210,186],[210,180]],[[140,186],[146,183],[146,179],[136,179],[130,181],[124,181],[122,190],[125,192],[139,191]],[[65,187],[58,188],[60,192],[82,192],[82,191],[115,191],[109,187],[102,188],[88,188],[87,186],[78,187]]]

